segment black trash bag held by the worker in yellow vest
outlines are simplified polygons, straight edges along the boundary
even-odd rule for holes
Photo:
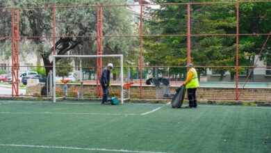
[[[186,86],[181,86],[178,88],[178,91],[176,90],[176,94],[172,98],[171,105],[172,108],[181,108],[181,105],[183,104],[183,98],[186,95]]]

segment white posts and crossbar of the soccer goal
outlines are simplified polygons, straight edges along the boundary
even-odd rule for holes
[[[53,56],[53,99],[56,102],[56,58],[103,58],[103,57],[119,57],[120,58],[120,100],[123,104],[124,102],[124,90],[123,90],[123,55],[122,54],[113,54],[113,55],[54,55]],[[97,78],[99,79],[99,78]]]

